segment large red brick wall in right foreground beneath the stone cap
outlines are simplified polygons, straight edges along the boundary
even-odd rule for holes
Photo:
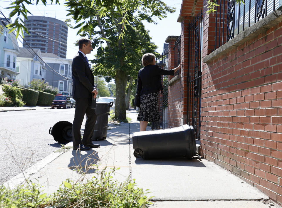
[[[206,56],[214,40],[204,25]],[[203,64],[202,74],[204,157],[282,203],[282,23]]]

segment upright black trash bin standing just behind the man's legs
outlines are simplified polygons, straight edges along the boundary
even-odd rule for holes
[[[108,118],[110,113],[110,107],[114,102],[110,103],[96,103],[97,120],[94,127],[92,140],[105,140],[108,132]]]

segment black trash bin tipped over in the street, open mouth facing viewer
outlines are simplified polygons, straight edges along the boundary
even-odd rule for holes
[[[54,137],[56,142],[67,144],[73,141],[73,124],[68,121],[59,121],[50,127],[49,134]]]

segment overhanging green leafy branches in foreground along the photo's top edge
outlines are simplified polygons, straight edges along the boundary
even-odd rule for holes
[[[46,6],[47,0],[41,0],[41,2]],[[59,0],[50,0],[51,4],[60,4]],[[28,14],[31,14],[25,7],[25,4],[38,4],[40,0],[15,0],[11,3],[11,6],[7,9],[13,9],[9,14],[9,17],[16,16],[13,23],[7,25],[11,31],[16,30],[16,37],[19,33],[24,35],[24,31],[28,34],[27,28],[24,26],[24,18],[27,18]],[[92,26],[92,21],[96,16],[99,18],[108,18],[119,16],[119,23],[122,27],[119,33],[120,37],[123,37],[127,25],[129,25],[128,18],[131,16],[132,11],[140,10],[144,12],[145,16],[152,17],[156,16],[158,18],[165,17],[166,11],[171,10],[162,1],[155,0],[66,0],[65,5],[67,6],[67,11],[69,14],[67,16],[72,16],[76,21],[77,25],[75,28],[80,28],[78,34],[88,31],[89,35],[93,35],[94,28]],[[88,8],[91,8],[88,9]],[[20,18],[20,16],[24,18]]]

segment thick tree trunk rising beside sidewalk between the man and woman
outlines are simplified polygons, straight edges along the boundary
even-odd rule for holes
[[[124,71],[118,69],[115,75],[115,119],[126,120],[125,108],[125,87],[127,83],[127,75]]]

